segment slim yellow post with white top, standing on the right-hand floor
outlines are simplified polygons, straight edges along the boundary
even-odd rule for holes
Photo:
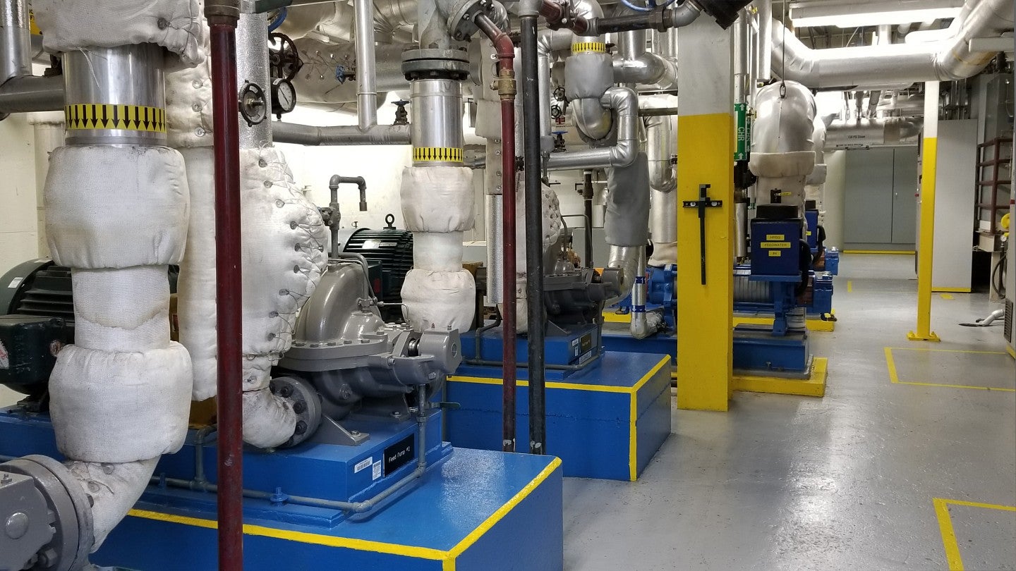
[[[932,331],[932,266],[935,257],[935,182],[938,174],[939,82],[925,83],[925,134],[920,146],[920,229],[917,234],[917,328],[911,341],[939,341]]]

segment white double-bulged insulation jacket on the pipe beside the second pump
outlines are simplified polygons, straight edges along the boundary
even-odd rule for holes
[[[402,313],[418,331],[468,331],[477,284],[462,268],[462,233],[474,221],[472,172],[464,167],[402,171],[405,227],[414,233],[414,267],[402,283]]]

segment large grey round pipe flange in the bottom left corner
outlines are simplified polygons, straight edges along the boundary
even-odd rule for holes
[[[0,464],[0,471],[27,475],[46,498],[54,516],[54,533],[50,543],[40,550],[47,562],[41,567],[52,571],[80,569],[88,563],[94,544],[91,520],[91,498],[77,479],[62,463],[41,455],[24,456]]]

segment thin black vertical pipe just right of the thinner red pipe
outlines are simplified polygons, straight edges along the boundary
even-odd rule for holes
[[[546,5],[546,3],[545,3]],[[522,101],[538,102],[536,17],[522,16]],[[549,18],[550,19],[550,18]],[[584,23],[583,23],[584,25]],[[544,207],[539,153],[539,114],[525,115],[525,268],[528,300],[529,452],[547,453],[547,401],[544,371]]]

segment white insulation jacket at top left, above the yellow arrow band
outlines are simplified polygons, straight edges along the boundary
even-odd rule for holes
[[[205,61],[198,0],[34,0],[31,7],[53,54],[157,44],[186,65]]]

